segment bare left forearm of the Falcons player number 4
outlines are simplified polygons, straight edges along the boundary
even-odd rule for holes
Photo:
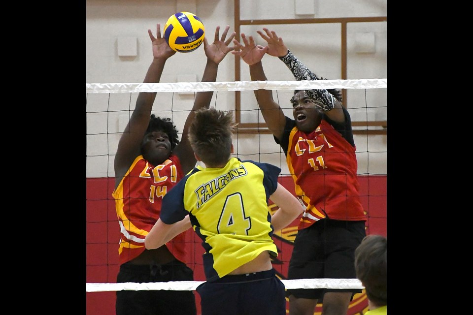
[[[189,216],[187,215],[183,220],[173,224],[166,224],[161,219],[158,219],[153,225],[149,233],[144,238],[144,247],[147,250],[154,250],[160,248],[168,243],[177,235],[187,231],[192,227]]]

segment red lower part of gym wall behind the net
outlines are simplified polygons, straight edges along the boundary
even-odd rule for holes
[[[115,201],[111,193],[114,178],[87,179],[87,226],[86,226],[86,283],[115,283],[119,269],[118,241],[120,229],[115,212]],[[367,212],[367,234],[386,236],[386,176],[359,176],[360,194]],[[294,191],[291,177],[281,177],[281,183],[290,191]],[[291,225],[297,226],[297,220]],[[289,259],[292,253],[293,233],[284,238],[274,236],[278,247],[277,260],[274,268],[281,279],[286,279]],[[191,244],[189,251],[189,267],[194,269],[194,280],[204,281],[202,267],[203,249],[200,239],[195,237],[192,229],[187,231],[187,239]],[[115,291],[86,292],[87,315],[115,314]],[[200,298],[196,293],[198,314],[200,314]],[[364,293],[355,295],[350,303],[348,315],[366,313],[368,301]],[[316,312],[321,308],[317,306]],[[320,314],[320,313],[319,313]]]

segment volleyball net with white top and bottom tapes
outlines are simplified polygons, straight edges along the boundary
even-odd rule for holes
[[[254,90],[275,91],[274,100],[287,116],[292,117],[289,99],[294,90],[344,89],[344,105],[351,116],[357,147],[360,194],[368,218],[367,234],[385,235],[386,88],[386,79],[86,84],[86,291],[195,290],[205,281],[201,240],[190,229],[186,232],[186,242],[189,242],[188,266],[194,270],[196,281],[116,283],[120,229],[115,201],[111,196],[114,189],[113,160],[120,136],[135,108],[138,93],[156,92],[152,113],[171,118],[181,131],[192,109],[195,94],[214,91],[210,106],[234,111],[238,122],[233,139],[233,156],[279,166],[281,183],[294,191],[286,158],[265,128]],[[277,206],[271,204],[269,211],[274,213]],[[278,248],[273,267],[287,289],[363,288],[357,279],[285,279],[297,235],[297,223],[298,220],[277,233],[275,231],[273,235]]]

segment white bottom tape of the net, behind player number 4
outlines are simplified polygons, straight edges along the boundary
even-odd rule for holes
[[[281,280],[286,289],[363,289],[364,286],[358,279],[297,279]],[[120,291],[120,290],[195,290],[204,281],[169,281],[153,283],[126,282],[120,284],[87,284],[87,292]]]

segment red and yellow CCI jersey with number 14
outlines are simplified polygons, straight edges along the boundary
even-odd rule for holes
[[[120,224],[120,264],[144,250],[144,238],[161,214],[163,196],[183,177],[179,158],[171,155],[154,166],[142,155],[135,158],[118,187],[112,192]],[[166,243],[176,259],[186,262],[185,232]]]

